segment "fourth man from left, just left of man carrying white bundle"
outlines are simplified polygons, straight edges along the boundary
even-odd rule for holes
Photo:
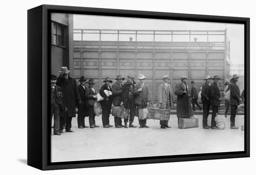
[[[94,103],[97,100],[96,90],[94,89],[94,79],[89,79],[89,87],[85,89],[86,106],[88,108],[89,115],[89,125],[90,128],[97,128],[98,125],[95,124],[95,114],[94,114]]]

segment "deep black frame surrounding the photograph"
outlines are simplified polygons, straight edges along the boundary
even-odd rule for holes
[[[73,13],[118,17],[150,19],[174,19],[201,22],[235,23],[244,25],[244,63],[245,63],[245,127],[244,151],[207,153],[178,156],[154,156],[120,158],[75,162],[50,162],[50,133],[47,128],[49,119],[48,80],[50,77],[50,13]],[[75,6],[41,5],[27,11],[27,164],[41,170],[74,169],[87,167],[117,166],[145,163],[180,162],[223,158],[249,157],[249,18],[180,14],[166,12],[145,12]],[[36,86],[35,86],[36,85]]]

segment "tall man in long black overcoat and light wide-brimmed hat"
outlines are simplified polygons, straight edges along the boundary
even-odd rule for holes
[[[63,125],[66,119],[66,132],[71,130],[72,117],[75,117],[75,106],[81,103],[81,97],[78,92],[77,84],[74,78],[71,78],[67,67],[61,67],[61,75],[57,78],[56,85],[60,86],[63,92],[63,103],[67,107],[67,113],[60,115],[60,133],[63,133]]]

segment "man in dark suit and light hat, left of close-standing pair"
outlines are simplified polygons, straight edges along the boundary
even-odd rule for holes
[[[202,93],[201,93],[201,100],[202,100],[202,127],[203,129],[210,129],[210,126],[207,124],[207,119],[209,116],[210,110],[210,82],[211,82],[210,75],[206,75],[203,79],[205,83],[202,85]]]

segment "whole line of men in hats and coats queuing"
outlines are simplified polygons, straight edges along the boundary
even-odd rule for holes
[[[80,78],[80,85],[77,86],[74,78],[69,76],[70,71],[67,67],[62,67],[60,76],[57,78],[55,75],[51,75],[51,119],[54,114],[54,135],[61,135],[63,133],[63,126],[66,124],[66,132],[73,132],[71,130],[71,121],[75,117],[75,106],[78,106],[78,127],[79,128],[95,128],[99,125],[95,124],[94,103],[97,101],[96,90],[94,89],[94,80],[88,80],[88,88],[85,87],[87,79],[84,76]],[[149,87],[145,84],[145,75],[138,77],[139,83],[135,82],[135,77],[132,74],[127,75],[128,80],[124,84],[125,80],[121,75],[117,75],[116,82],[113,86],[110,83],[113,81],[107,77],[101,86],[99,94],[104,100],[100,101],[102,107],[102,125],[104,128],[113,127],[109,124],[109,116],[111,113],[112,103],[114,106],[124,106],[129,110],[127,119],[124,119],[124,125],[122,125],[121,118],[115,117],[116,128],[128,128],[137,127],[133,124],[135,117],[135,110],[146,108],[149,106],[150,96]],[[163,83],[158,88],[158,107],[162,109],[170,109],[175,101],[174,94],[172,92],[171,85],[168,83],[169,76],[163,75]],[[210,80],[214,82],[210,85]],[[194,87],[195,82],[191,82],[192,90],[189,91],[188,77],[182,76],[181,83],[175,87],[175,95],[177,95],[177,117],[189,117],[193,118],[193,110],[195,111],[195,104],[199,106],[200,110],[203,109],[203,128],[209,129],[207,125],[207,118],[209,115],[209,107],[212,105],[212,120],[211,128],[217,129],[215,123],[215,116],[218,113],[218,107],[220,106],[220,92],[217,86],[217,82],[220,78],[214,76],[211,78],[209,75],[204,79],[206,82],[202,87],[202,104],[201,107],[197,103],[197,90]],[[235,126],[236,108],[239,104],[240,92],[237,84],[238,76],[234,75],[232,78],[233,84],[230,85],[230,106],[231,106],[231,129],[237,129]],[[238,89],[238,90],[237,90]],[[111,91],[112,95],[107,96],[104,90]],[[232,96],[232,100],[231,100]],[[192,97],[192,107],[190,103],[190,97]],[[137,108],[137,109],[136,109]],[[89,117],[89,126],[85,125],[85,117]],[[129,122],[129,125],[128,125]],[[148,128],[146,125],[146,119],[139,119],[139,128]],[[160,120],[162,129],[170,128],[168,120]]]

